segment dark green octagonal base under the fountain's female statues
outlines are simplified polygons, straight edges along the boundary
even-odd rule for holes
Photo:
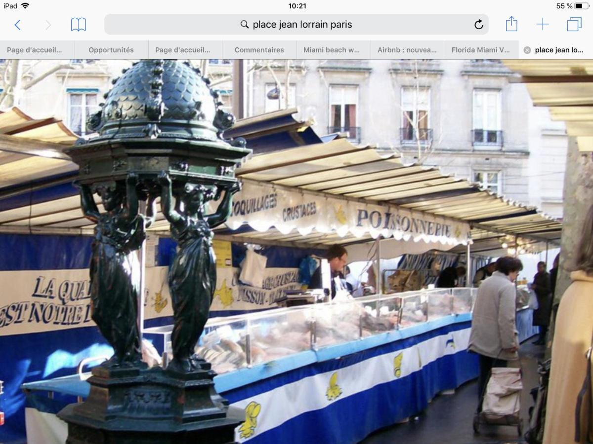
[[[195,374],[161,368],[95,368],[90,394],[58,414],[68,423],[69,444],[233,443],[244,418],[227,416],[207,363]]]

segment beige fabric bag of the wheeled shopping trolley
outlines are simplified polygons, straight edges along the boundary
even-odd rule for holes
[[[521,407],[521,369],[493,367],[486,385],[482,412],[491,416],[517,415]]]

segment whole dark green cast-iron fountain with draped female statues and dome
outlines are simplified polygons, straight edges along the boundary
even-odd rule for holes
[[[87,400],[60,411],[68,443],[234,442],[241,420],[228,417],[215,373],[193,352],[216,285],[212,229],[229,216],[240,189],[235,165],[250,153],[243,139],[224,139],[234,117],[220,106],[189,63],[142,60],[114,79],[89,119],[97,135],[67,151],[79,166],[82,210],[96,224],[93,320],[115,351],[93,368]],[[159,197],[179,246],[168,276],[174,329],[166,369],[141,361],[137,323],[137,252]],[[218,201],[210,214],[208,201]]]

